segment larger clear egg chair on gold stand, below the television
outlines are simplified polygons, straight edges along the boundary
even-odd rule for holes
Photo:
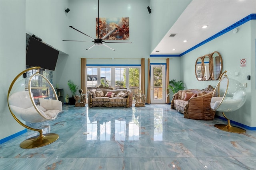
[[[37,69],[35,74],[27,78],[21,77],[29,70]],[[20,143],[24,149],[38,148],[53,143],[58,134],[46,133],[38,128],[38,124],[54,120],[62,111],[62,102],[58,100],[56,91],[50,81],[39,74],[40,67],[28,68],[18,74],[12,81],[7,96],[9,110],[14,119],[22,126],[39,135]]]

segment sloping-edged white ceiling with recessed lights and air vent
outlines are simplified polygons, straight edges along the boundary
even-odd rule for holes
[[[151,55],[180,55],[250,14],[256,14],[256,0],[193,0]]]

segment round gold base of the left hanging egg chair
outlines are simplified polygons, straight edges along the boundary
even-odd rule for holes
[[[23,149],[32,149],[32,148],[38,148],[43,147],[45,145],[49,145],[50,143],[53,143],[59,138],[59,135],[56,133],[47,133],[38,136],[31,137],[29,139],[26,139],[22,143],[20,143],[20,147]]]

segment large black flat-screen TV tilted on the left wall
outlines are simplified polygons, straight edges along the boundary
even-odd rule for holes
[[[26,65],[40,66],[48,70],[55,70],[59,51],[49,45],[30,37],[26,50]]]

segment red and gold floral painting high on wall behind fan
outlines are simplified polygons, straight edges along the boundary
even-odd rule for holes
[[[129,18],[100,18],[99,38],[104,37],[112,29],[117,28],[114,33],[104,40],[128,40],[129,39]],[[98,18],[96,18],[96,37],[98,37]]]

